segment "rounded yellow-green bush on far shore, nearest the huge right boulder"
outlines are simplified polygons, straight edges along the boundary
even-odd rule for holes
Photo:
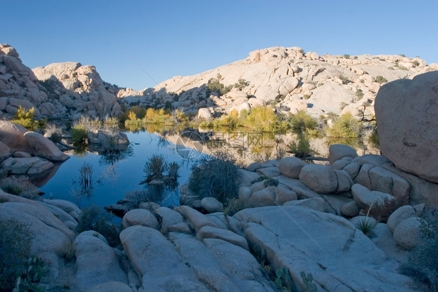
[[[350,113],[345,113],[333,120],[330,127],[325,129],[326,135],[335,138],[358,138],[363,129],[363,123]]]

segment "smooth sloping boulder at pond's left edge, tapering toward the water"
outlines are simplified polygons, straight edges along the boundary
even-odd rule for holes
[[[64,154],[52,141],[45,138],[43,135],[29,131],[24,134],[24,139],[28,141],[34,151],[35,156],[45,158],[50,161],[59,162],[66,161],[70,156]]]

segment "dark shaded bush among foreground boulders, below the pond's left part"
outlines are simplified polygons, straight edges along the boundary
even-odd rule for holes
[[[115,224],[111,224],[112,216],[106,211],[102,211],[99,206],[91,204],[90,207],[82,209],[79,220],[77,221],[77,233],[94,230],[102,234],[108,244],[116,247],[120,244],[120,231]]]

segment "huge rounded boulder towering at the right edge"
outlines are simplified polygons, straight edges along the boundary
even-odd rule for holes
[[[380,87],[374,104],[380,150],[395,166],[438,182],[438,71]]]

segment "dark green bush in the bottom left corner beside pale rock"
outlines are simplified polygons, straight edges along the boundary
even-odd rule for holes
[[[32,234],[16,220],[0,222],[0,291],[11,291],[17,277],[26,271]]]

